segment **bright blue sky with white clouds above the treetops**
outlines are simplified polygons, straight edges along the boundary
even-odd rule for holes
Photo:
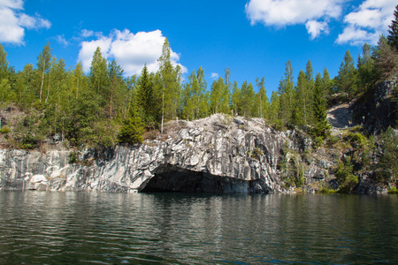
[[[208,87],[225,76],[256,84],[270,96],[290,60],[295,77],[308,60],[314,72],[337,75],[349,49],[387,35],[396,0],[0,0],[0,43],[17,71],[36,64],[50,42],[52,56],[89,71],[97,47],[126,76],[143,64],[157,71],[165,38],[183,79],[202,66]]]

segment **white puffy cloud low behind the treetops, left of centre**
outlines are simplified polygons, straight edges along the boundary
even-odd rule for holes
[[[138,32],[137,34],[133,34],[127,29],[113,30],[108,36],[85,30],[81,35],[83,34],[96,36],[95,40],[81,42],[79,60],[86,72],[89,71],[97,47],[101,49],[103,57],[115,58],[127,75],[140,74],[144,64],[147,64],[149,72],[156,72],[158,69],[157,59],[162,55],[162,47],[165,42],[165,36],[160,30]],[[180,56],[172,51],[171,59],[172,64],[177,65]],[[187,72],[185,66],[179,65],[182,72]]]

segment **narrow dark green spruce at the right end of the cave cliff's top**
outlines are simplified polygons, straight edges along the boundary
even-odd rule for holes
[[[317,74],[314,86],[314,134],[325,137],[329,134],[330,125],[327,121],[325,93],[322,89],[322,76]]]

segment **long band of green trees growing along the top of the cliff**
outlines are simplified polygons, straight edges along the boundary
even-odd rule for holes
[[[65,61],[51,54],[48,43],[37,57],[36,65],[27,64],[16,72],[0,45],[0,100],[28,113],[14,139],[26,146],[60,135],[72,145],[110,146],[115,142],[141,142],[149,130],[163,132],[165,121],[175,118],[193,120],[213,113],[263,117],[282,129],[302,126],[314,136],[328,135],[326,100],[341,93],[348,99],[371,92],[374,84],[396,75],[398,65],[398,11],[387,37],[380,36],[376,47],[364,44],[356,62],[347,51],[338,75],[331,79],[325,68],[314,73],[310,60],[296,81],[287,61],[279,87],[267,97],[264,78],[231,80],[229,68],[208,87],[204,69],[181,81],[181,68],[172,65],[170,44],[165,40],[159,70],[142,68],[140,76],[125,77],[115,61],[107,62],[98,48],[90,71],[81,64],[66,69]]]

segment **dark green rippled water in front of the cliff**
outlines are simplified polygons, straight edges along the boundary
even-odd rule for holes
[[[0,192],[1,264],[398,260],[398,197]]]

